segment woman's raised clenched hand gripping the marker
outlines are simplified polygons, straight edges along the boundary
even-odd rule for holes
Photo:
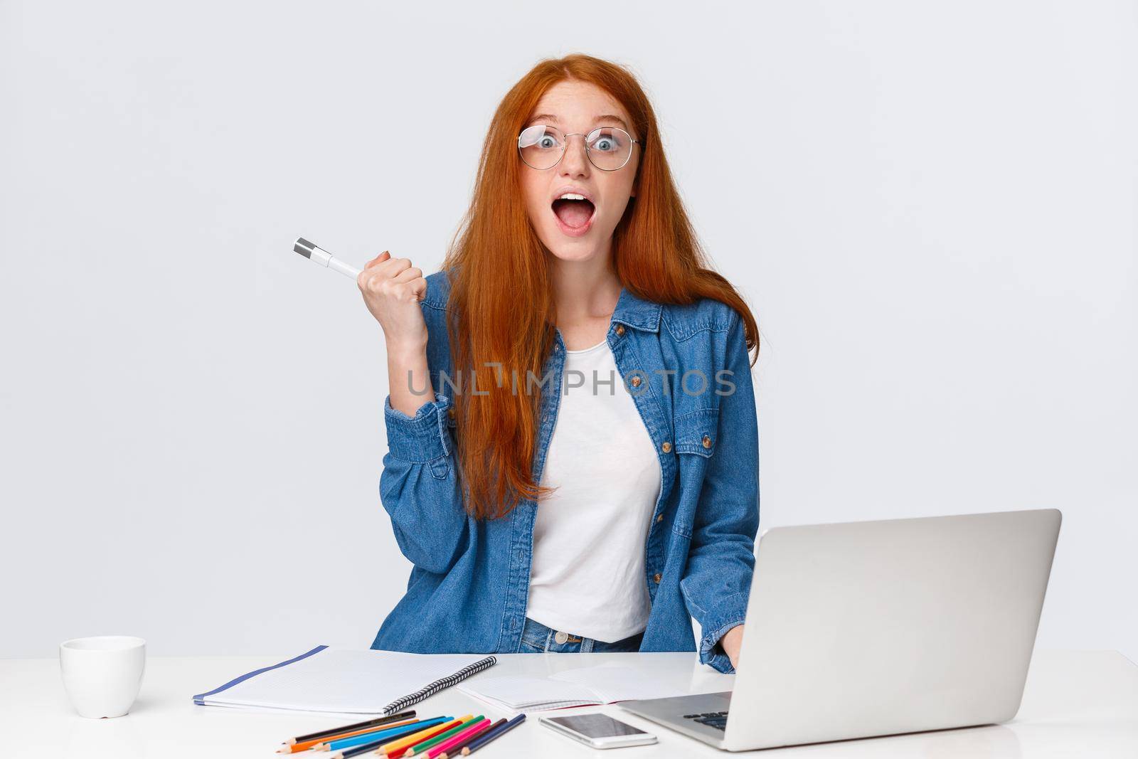
[[[427,292],[427,280],[411,259],[391,258],[385,250],[368,262],[356,284],[368,311],[384,329],[389,355],[413,354],[427,347],[427,322],[419,306]]]

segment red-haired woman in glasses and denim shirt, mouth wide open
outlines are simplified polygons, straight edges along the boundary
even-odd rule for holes
[[[494,115],[443,270],[384,251],[358,284],[387,343],[380,497],[414,564],[372,647],[698,650],[734,671],[758,331],[632,74],[539,63]]]

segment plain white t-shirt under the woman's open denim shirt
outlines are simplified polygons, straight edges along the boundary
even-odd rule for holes
[[[644,550],[660,460],[607,340],[566,350],[556,389],[542,485],[558,489],[537,505],[526,616],[612,643],[648,625]]]

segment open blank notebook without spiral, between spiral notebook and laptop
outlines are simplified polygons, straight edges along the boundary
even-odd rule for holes
[[[582,667],[550,677],[479,677],[463,683],[459,690],[506,711],[542,711],[688,693],[643,669],[618,665]]]

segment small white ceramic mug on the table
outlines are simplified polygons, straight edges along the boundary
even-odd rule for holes
[[[126,635],[77,637],[59,644],[59,670],[82,717],[122,717],[142,685],[146,641]]]

